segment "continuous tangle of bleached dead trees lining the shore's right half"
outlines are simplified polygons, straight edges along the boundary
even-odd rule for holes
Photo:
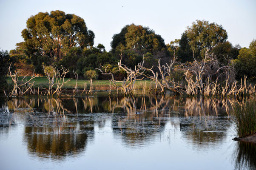
[[[194,59],[192,63],[183,64],[177,62],[175,55],[169,64],[165,63],[165,65],[161,65],[159,59],[158,65],[156,66],[158,68],[157,71],[154,71],[154,66],[151,68],[143,66],[144,56],[142,62],[140,62],[134,70],[122,64],[122,54],[120,57],[118,67],[119,69],[123,69],[127,74],[127,77],[125,77],[123,81],[116,81],[111,71],[107,72],[108,66],[103,67],[100,65],[98,70],[100,70],[102,74],[110,75],[111,82],[114,84],[113,86],[120,88],[124,95],[132,94],[135,81],[141,80],[143,77],[147,77],[155,83],[154,92],[156,94],[164,94],[166,90],[170,90],[175,94],[185,92],[185,94],[188,95],[204,96],[256,95],[256,85],[247,86],[246,78],[244,79],[244,83],[242,83],[241,80],[241,85],[236,81],[235,69],[230,59],[226,58],[228,64],[224,65],[218,61],[216,55],[209,54],[208,51],[205,52],[205,58],[202,61]],[[176,69],[185,74],[186,85],[184,88],[182,88],[182,83],[175,82],[174,78],[172,79],[173,73],[175,73],[173,71]],[[149,74],[147,74],[147,72],[149,72]],[[121,86],[117,85],[119,82],[122,82]]]

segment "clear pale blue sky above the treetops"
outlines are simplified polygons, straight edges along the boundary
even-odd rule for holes
[[[22,42],[26,21],[38,12],[76,14],[94,31],[94,46],[111,49],[114,34],[134,23],[148,26],[165,43],[180,39],[196,20],[222,25],[228,41],[241,47],[256,39],[256,0],[0,0],[0,48],[10,51]]]

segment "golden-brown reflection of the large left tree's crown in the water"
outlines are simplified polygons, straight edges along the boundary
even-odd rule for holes
[[[85,150],[88,134],[77,133],[80,125],[59,127],[25,127],[24,140],[28,151],[38,157],[62,159],[63,156],[77,156]],[[75,130],[74,130],[75,128]]]

